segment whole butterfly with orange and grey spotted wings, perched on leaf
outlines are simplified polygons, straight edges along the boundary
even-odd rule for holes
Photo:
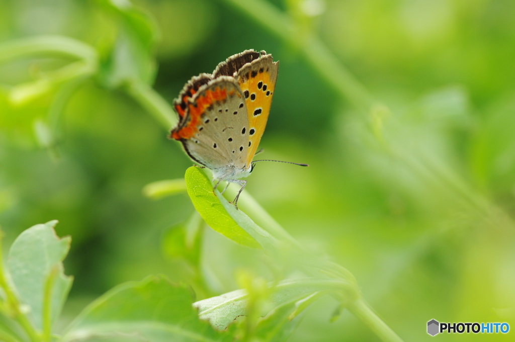
[[[265,131],[278,69],[279,62],[265,51],[245,50],[219,63],[212,74],[194,76],[174,101],[179,123],[170,138],[212,171],[215,188],[220,181],[242,186],[233,200],[236,208],[247,184],[241,178],[257,162],[252,159]]]

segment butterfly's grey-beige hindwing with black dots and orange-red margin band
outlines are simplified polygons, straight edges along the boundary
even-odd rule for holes
[[[221,76],[201,87],[180,126],[174,132],[197,162],[211,169],[245,167],[248,115],[244,95],[233,78]]]

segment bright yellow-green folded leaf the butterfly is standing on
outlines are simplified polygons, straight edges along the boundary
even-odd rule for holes
[[[213,230],[238,244],[252,248],[271,248],[275,244],[270,234],[241,210],[234,208],[218,190],[213,192],[213,185],[201,168],[188,168],[184,179],[195,209]]]

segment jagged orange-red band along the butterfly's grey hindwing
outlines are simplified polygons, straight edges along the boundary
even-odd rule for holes
[[[175,140],[190,139],[195,133],[198,132],[198,125],[200,124],[201,115],[205,110],[211,106],[215,101],[223,101],[227,98],[227,90],[216,88],[214,91],[211,89],[205,90],[205,95],[197,97],[196,104],[188,104],[188,115],[190,121],[185,127],[178,131],[171,132],[171,138]],[[183,116],[185,113],[181,115]]]

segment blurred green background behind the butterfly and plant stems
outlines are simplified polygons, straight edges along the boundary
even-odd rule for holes
[[[157,21],[155,89],[168,101],[191,76],[244,49],[281,61],[262,156],[311,166],[261,163],[245,191],[308,250],[347,267],[404,340],[432,338],[433,318],[515,328],[515,2],[270,1],[299,27],[289,42],[231,1],[134,3]],[[97,2],[0,0],[2,42],[64,35],[101,51],[115,32]],[[311,35],[384,106],[356,109],[331,87],[291,43]],[[65,311],[151,273],[202,288],[197,299],[237,288],[238,269],[269,276],[270,261],[210,230],[203,279],[169,252],[170,227],[193,206],[185,194],[155,201],[142,189],[183,177],[192,162],[124,91],[88,80],[61,116],[60,156],[40,146],[35,123],[55,91],[21,104],[9,96],[68,62],[0,64],[0,225],[6,244],[51,219],[60,236],[72,236]],[[310,307],[289,340],[376,340],[348,313],[330,323],[335,307],[331,298]]]

